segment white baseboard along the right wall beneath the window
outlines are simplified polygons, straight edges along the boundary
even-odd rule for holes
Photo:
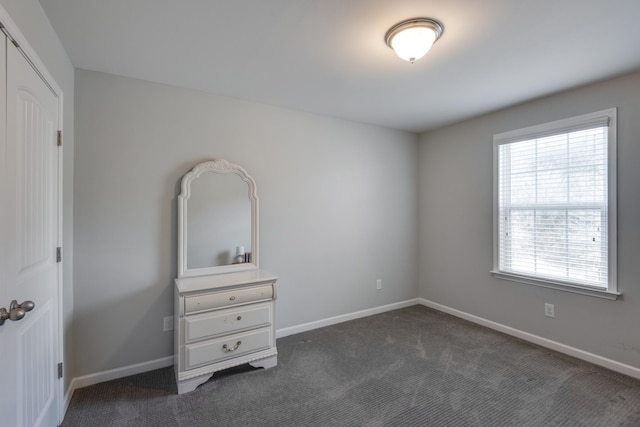
[[[496,331],[514,336],[516,338],[520,338],[525,341],[529,341],[541,347],[564,353],[566,355],[575,357],[576,359],[584,360],[585,362],[593,363],[594,365],[602,366],[604,368],[611,369],[612,371],[640,379],[640,368],[636,368],[635,366],[626,365],[624,363],[617,362],[606,357],[598,356],[597,354],[589,353],[587,351],[580,350],[579,348],[571,347],[557,341],[530,334],[528,332],[524,332],[519,329],[503,325],[501,323],[496,323],[491,320],[475,316],[473,314],[465,313],[464,311],[456,310],[454,308],[447,307],[446,305],[438,304],[424,298],[418,298],[418,302],[419,304],[422,304],[426,307],[451,314],[453,316],[468,320],[478,325],[486,326],[487,328],[494,329]]]

